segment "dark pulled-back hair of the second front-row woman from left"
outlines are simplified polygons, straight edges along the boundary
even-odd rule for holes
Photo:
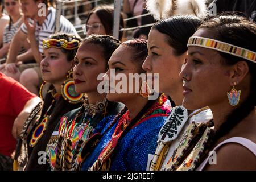
[[[82,41],[82,44],[96,44],[101,46],[104,49],[104,57],[107,64],[112,53],[118,48],[121,42],[110,35],[90,35]]]

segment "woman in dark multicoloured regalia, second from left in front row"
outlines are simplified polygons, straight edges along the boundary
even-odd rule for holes
[[[106,100],[98,91],[100,74],[108,70],[108,60],[119,46],[119,40],[109,35],[92,35],[84,39],[74,61],[73,78],[77,93],[86,93],[82,107],[61,117],[48,142],[47,156],[53,170],[76,170],[81,162],[81,150],[105,122],[113,120],[123,104]],[[104,119],[104,122],[100,122]]]

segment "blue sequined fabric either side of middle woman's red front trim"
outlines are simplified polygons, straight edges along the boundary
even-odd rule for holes
[[[162,94],[159,100],[156,101],[156,104],[151,106],[149,110],[152,111],[149,114],[146,114],[146,111],[143,115],[143,119],[139,119],[139,121],[118,140],[118,144],[111,155],[110,171],[146,170],[148,155],[154,154],[155,152],[158,133],[165,119],[170,114],[171,103]],[[116,122],[109,128],[109,126],[112,125],[112,121],[102,122],[108,122],[101,132],[102,134],[104,133],[104,135],[102,135],[100,142],[89,154],[88,158],[82,163],[82,170],[88,170],[92,167],[102,150],[104,150],[106,144],[112,139],[114,130],[118,125],[118,122]]]

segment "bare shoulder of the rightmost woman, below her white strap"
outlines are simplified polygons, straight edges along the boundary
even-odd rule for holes
[[[204,170],[256,170],[256,156],[249,149],[237,143],[228,143],[221,146],[217,150],[216,162],[217,164],[208,164]]]

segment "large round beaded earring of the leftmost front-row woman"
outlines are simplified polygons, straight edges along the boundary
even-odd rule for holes
[[[61,85],[61,95],[69,103],[76,104],[82,101],[84,94],[76,93],[72,74],[72,70],[68,71],[67,80],[65,80]]]

